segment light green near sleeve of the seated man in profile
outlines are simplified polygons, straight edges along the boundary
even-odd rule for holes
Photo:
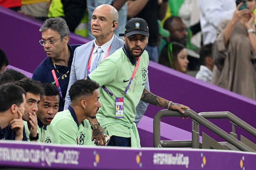
[[[61,119],[55,123],[55,127],[59,132],[60,144],[77,145],[77,125],[69,119]]]

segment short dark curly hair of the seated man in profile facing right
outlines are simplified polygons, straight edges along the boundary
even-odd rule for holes
[[[92,95],[94,90],[98,89],[100,85],[92,80],[77,80],[69,89],[70,101],[81,97]]]

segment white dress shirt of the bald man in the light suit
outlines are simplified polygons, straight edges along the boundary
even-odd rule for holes
[[[110,47],[110,45],[112,44],[114,40],[114,34],[112,35],[112,38],[106,42],[105,44],[103,44],[102,46],[100,46],[100,48],[103,50],[103,52],[101,53],[100,55],[100,58],[99,58],[99,63],[98,65],[100,64],[100,62],[103,60],[103,58],[105,57],[105,55],[107,54],[108,52],[108,48]],[[91,67],[92,67],[92,63],[94,61],[94,59],[96,58],[97,56],[97,49],[99,48],[99,46],[96,44],[96,39],[94,40],[94,49],[92,51],[92,61],[91,61]],[[98,67],[97,65],[97,67]]]

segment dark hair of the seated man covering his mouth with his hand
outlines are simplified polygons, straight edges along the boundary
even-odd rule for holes
[[[43,89],[41,82],[39,81],[32,80],[31,78],[22,78],[21,80],[16,81],[14,84],[22,87],[26,93],[29,92],[32,94],[40,94],[40,96],[43,95]]]

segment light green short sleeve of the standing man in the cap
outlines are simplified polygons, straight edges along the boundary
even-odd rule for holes
[[[87,76],[87,78],[99,83],[100,86],[115,81],[118,67],[115,62],[103,60],[100,65]]]

